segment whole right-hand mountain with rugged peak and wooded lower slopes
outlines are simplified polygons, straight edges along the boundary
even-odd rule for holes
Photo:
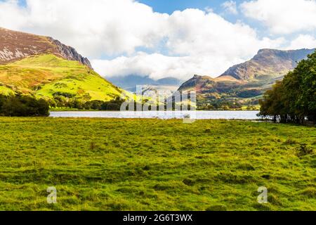
[[[258,99],[277,80],[293,70],[315,49],[281,51],[261,49],[249,61],[234,65],[220,77],[195,75],[178,91],[197,91],[199,108],[241,108],[258,105]]]

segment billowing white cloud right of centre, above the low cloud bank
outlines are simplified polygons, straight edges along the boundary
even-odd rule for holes
[[[249,58],[260,48],[280,44],[280,39],[259,39],[248,25],[230,23],[216,13],[198,9],[174,12],[168,25],[166,46],[171,53],[179,55]]]

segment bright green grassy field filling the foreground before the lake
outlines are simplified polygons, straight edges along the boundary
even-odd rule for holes
[[[316,210],[315,127],[2,117],[0,139],[0,210]]]

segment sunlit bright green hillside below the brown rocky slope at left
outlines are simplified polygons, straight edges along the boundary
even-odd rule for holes
[[[53,54],[24,58],[0,65],[0,93],[33,94],[53,98],[55,95],[111,101],[122,89],[100,77],[85,65]]]

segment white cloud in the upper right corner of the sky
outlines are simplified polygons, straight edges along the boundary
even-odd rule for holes
[[[273,34],[316,29],[315,0],[256,0],[241,5],[244,15],[261,21]]]

